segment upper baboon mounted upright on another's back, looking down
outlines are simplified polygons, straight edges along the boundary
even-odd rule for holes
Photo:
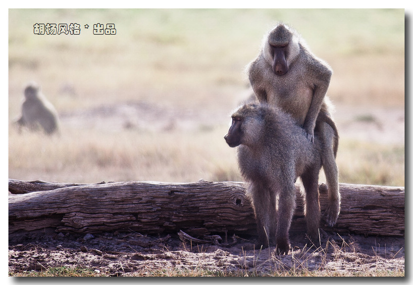
[[[328,186],[324,218],[330,227],[334,226],[340,212],[335,160],[338,134],[334,122],[329,126],[324,121],[324,118],[331,121],[331,103],[326,96],[331,68],[310,52],[295,30],[278,23],[264,37],[258,57],[248,67],[248,75],[259,102],[277,106],[290,114],[306,130],[311,142],[314,142],[314,129],[318,130]]]

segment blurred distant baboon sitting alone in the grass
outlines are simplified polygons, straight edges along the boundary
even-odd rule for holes
[[[52,103],[42,94],[36,83],[29,83],[24,89],[25,100],[21,106],[21,117],[17,121],[19,129],[26,126],[31,130],[42,128],[46,134],[59,130],[57,112]]]

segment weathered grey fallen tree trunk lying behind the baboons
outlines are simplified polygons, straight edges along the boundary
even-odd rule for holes
[[[241,182],[110,182],[65,184],[9,179],[9,235],[52,228],[60,232],[137,231],[142,234],[255,235],[251,203]],[[327,206],[324,184],[320,206]],[[340,184],[341,212],[334,228],[366,235],[404,236],[404,187]],[[290,232],[305,232],[303,199]]]

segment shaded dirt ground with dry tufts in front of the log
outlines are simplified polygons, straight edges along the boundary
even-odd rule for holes
[[[176,234],[42,232],[9,240],[9,272],[67,266],[88,268],[105,276],[151,276],[156,270],[165,274],[206,270],[250,276],[315,271],[346,276],[404,274],[403,238],[321,236],[321,246],[311,246],[304,234],[290,235],[293,251],[280,256],[274,247],[258,250],[254,239],[239,237],[230,239],[232,244],[227,247],[224,243],[183,242]]]

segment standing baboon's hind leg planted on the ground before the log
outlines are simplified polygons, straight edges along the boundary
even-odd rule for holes
[[[320,226],[320,203],[318,200],[318,171],[314,168],[301,176],[306,192],[305,215],[307,234],[314,242],[318,239]]]

